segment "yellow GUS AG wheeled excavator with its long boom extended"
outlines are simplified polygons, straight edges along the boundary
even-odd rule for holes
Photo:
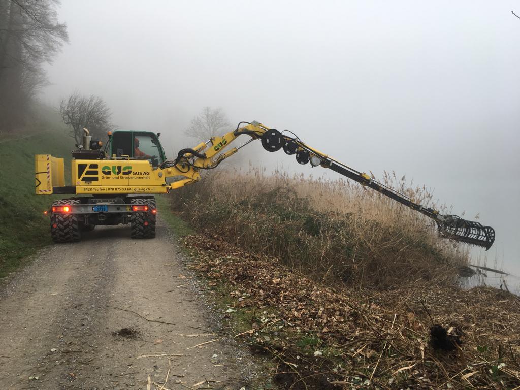
[[[285,154],[295,155],[300,164],[330,169],[432,218],[441,237],[486,250],[495,241],[493,228],[457,215],[441,215],[366,173],[309,147],[294,133],[280,132],[258,122],[240,122],[235,130],[222,137],[212,137],[194,148],[180,150],[171,161],[165,158],[160,133],[109,132],[108,142],[102,148],[101,141],[93,140],[87,129],[84,132],[83,145],[72,152],[71,186],[64,185],[62,158],[49,154],[35,156],[36,194],[72,194],[72,197],[53,202],[46,211],[55,242],[79,241],[83,230],[94,229],[97,225],[130,224],[132,238],[155,237],[157,207],[154,194],[197,183],[202,170],[216,168],[257,139],[269,152],[282,149]],[[230,144],[242,135],[249,137],[248,141],[229,149]]]

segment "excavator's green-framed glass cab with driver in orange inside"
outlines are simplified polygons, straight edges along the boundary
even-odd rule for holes
[[[159,134],[142,131],[114,131],[109,134],[107,153],[112,159],[149,160],[157,167],[166,161]]]

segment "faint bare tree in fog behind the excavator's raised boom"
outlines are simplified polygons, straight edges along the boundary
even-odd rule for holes
[[[193,117],[184,133],[197,140],[207,141],[223,131],[229,131],[229,127],[229,121],[222,108],[204,107],[200,114]]]

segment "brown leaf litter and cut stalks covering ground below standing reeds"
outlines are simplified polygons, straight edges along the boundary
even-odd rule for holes
[[[237,334],[275,363],[285,388],[520,389],[520,300],[505,291],[427,284],[330,287],[219,237],[187,236],[191,267],[224,285],[226,316],[254,313]],[[462,344],[430,344],[433,324]]]

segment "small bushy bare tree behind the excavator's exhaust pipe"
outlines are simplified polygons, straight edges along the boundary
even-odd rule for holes
[[[86,97],[74,92],[61,100],[60,114],[76,144],[81,144],[83,127],[88,128],[90,135],[97,136],[115,128],[110,122],[110,109],[99,96]]]

